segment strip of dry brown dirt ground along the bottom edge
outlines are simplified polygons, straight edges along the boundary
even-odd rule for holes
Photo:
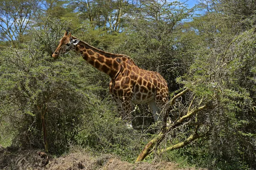
[[[111,155],[95,158],[83,152],[53,158],[40,150],[0,149],[0,170],[195,170],[177,166],[178,164],[171,162],[133,164]]]

